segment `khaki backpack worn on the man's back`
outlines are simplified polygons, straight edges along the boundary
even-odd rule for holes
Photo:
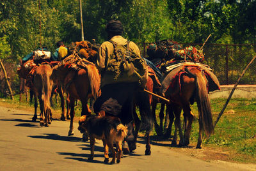
[[[113,54],[108,59],[106,74],[112,75],[113,82],[139,82],[141,86],[147,80],[147,65],[145,61],[132,52],[129,42],[125,45],[118,45],[114,41]]]

